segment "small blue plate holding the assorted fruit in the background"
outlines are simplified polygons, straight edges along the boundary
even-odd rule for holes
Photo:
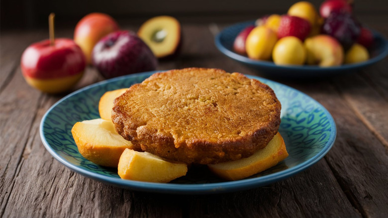
[[[339,73],[352,73],[370,66],[388,55],[388,42],[380,33],[374,32],[375,44],[370,49],[371,59],[358,64],[346,64],[338,67],[321,68],[318,66],[279,66],[272,61],[258,61],[237,54],[233,51],[233,43],[236,36],[254,21],[237,23],[224,28],[215,37],[215,45],[224,55],[241,62],[249,67],[259,70],[266,76],[283,78],[305,78],[317,76],[330,76]]]

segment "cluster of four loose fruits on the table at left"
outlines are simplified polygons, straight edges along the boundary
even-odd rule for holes
[[[181,25],[171,16],[153,17],[135,33],[121,30],[107,14],[91,13],[78,22],[74,40],[54,38],[54,14],[49,18],[50,39],[33,43],[21,58],[26,82],[45,93],[71,89],[88,64],[106,79],[153,71],[181,44]]]

